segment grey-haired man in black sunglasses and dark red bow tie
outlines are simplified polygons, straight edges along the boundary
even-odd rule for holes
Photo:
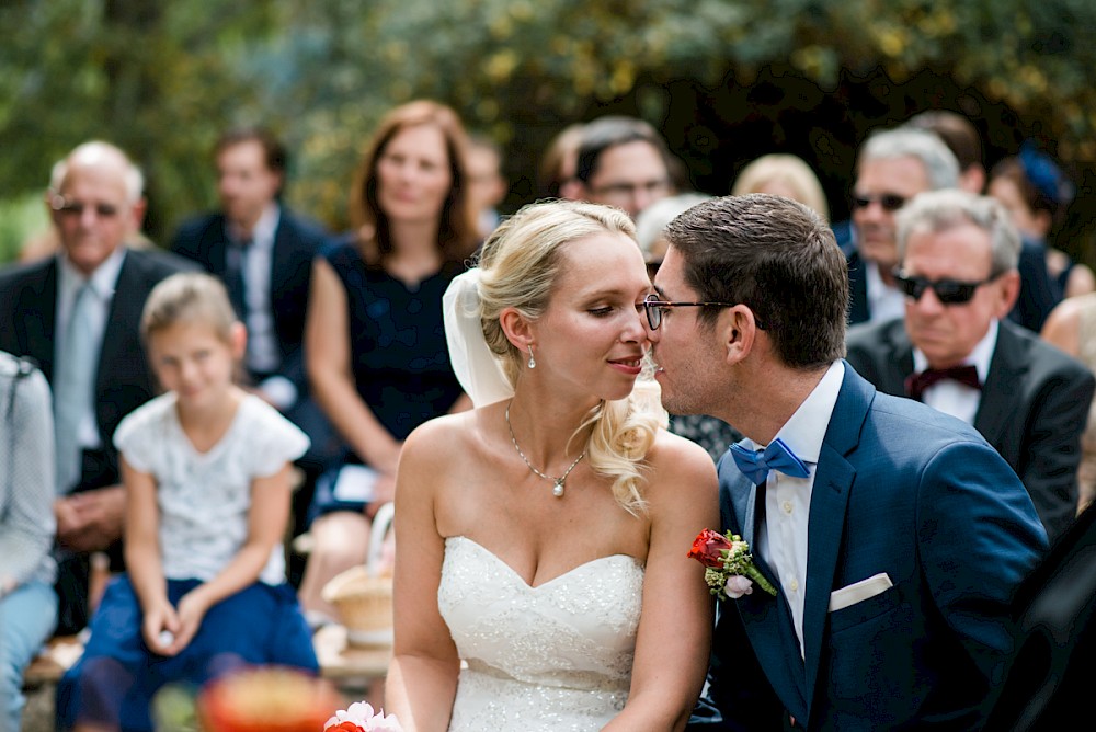
[[[898,232],[904,318],[854,328],[848,362],[880,391],[972,424],[1057,537],[1076,513],[1092,374],[1006,318],[1020,241],[993,199],[924,194],[899,215]]]

